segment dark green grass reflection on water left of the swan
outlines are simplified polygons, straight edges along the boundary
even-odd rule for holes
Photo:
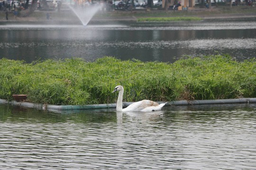
[[[36,110],[31,108],[23,108],[18,106],[6,106],[0,104],[0,122],[10,120],[12,122],[38,122],[38,123],[103,123],[116,122],[116,113],[93,111],[93,110],[77,110],[73,113],[53,113],[44,110]]]

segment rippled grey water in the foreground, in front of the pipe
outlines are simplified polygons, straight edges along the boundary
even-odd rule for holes
[[[256,169],[256,104],[152,113],[0,105],[0,169]]]

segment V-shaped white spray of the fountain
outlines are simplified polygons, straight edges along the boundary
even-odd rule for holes
[[[82,25],[87,26],[91,18],[100,10],[101,6],[90,5],[84,8],[81,8],[81,7],[73,8],[71,5],[69,5],[69,8],[79,18],[79,20],[82,22]]]

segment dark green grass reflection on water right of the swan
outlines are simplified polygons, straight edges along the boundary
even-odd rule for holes
[[[245,104],[203,104],[175,106],[166,109],[163,115],[163,123],[178,124],[219,124],[218,120],[223,122],[240,120],[251,120],[256,118],[256,103]],[[239,121],[241,122],[241,121]],[[173,128],[181,128],[180,126]]]

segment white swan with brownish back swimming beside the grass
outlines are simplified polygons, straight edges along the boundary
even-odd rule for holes
[[[121,85],[117,85],[114,89],[114,92],[119,92],[118,101],[117,101],[117,111],[156,111],[161,110],[162,107],[167,103],[158,104],[150,100],[142,100],[139,102],[134,102],[130,104],[127,108],[123,109],[123,94],[124,88]]]

